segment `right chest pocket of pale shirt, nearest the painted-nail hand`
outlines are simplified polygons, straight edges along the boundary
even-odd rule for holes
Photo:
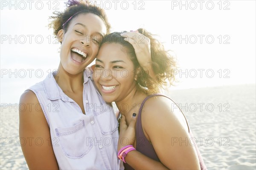
[[[111,135],[118,130],[116,115],[110,105],[105,104],[102,112],[94,112],[94,115],[103,135]]]

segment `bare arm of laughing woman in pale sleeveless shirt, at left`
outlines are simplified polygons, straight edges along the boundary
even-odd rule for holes
[[[29,169],[56,170],[56,161],[49,126],[34,92],[28,90],[20,97],[20,142]],[[26,106],[26,107],[25,107]]]

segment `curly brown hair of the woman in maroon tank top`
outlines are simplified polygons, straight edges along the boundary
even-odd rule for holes
[[[176,69],[176,60],[150,32],[147,32],[145,29],[138,29],[138,31],[150,39],[151,64],[155,78],[151,78],[147,72],[141,69],[137,75],[137,89],[149,95],[159,92],[159,87],[166,86],[168,84],[167,81],[169,81],[169,85],[172,85],[175,80],[173,70]],[[128,56],[134,64],[134,68],[137,69],[140,67],[140,64],[137,60],[134,47],[124,40],[125,37],[122,37],[120,35],[121,33],[123,32],[113,32],[106,35],[103,38],[102,45],[104,43],[121,44],[125,47]]]

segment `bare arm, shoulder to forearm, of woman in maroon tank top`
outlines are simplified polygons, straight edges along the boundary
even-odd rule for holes
[[[188,129],[183,126],[178,113],[172,112],[170,100],[149,100],[142,114],[142,125],[161,162],[156,162],[138,151],[128,153],[125,161],[134,169],[199,170],[195,147],[189,144]],[[180,140],[187,142],[180,143]]]

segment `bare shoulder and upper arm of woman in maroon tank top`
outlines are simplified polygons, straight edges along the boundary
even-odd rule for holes
[[[143,109],[143,132],[161,163],[169,169],[199,169],[196,150],[192,145],[173,142],[173,139],[189,138],[187,124],[183,121],[185,118],[177,105],[169,98],[155,96],[145,102]]]

